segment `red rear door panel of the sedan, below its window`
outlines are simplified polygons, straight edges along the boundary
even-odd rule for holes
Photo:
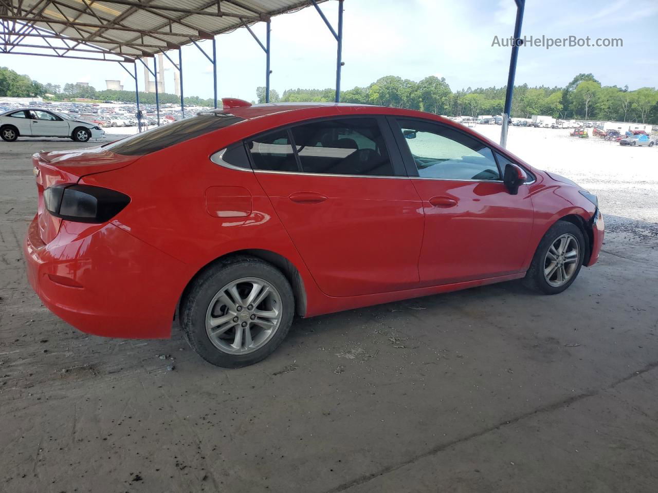
[[[424,217],[411,179],[256,176],[325,294],[356,296],[418,285]]]

